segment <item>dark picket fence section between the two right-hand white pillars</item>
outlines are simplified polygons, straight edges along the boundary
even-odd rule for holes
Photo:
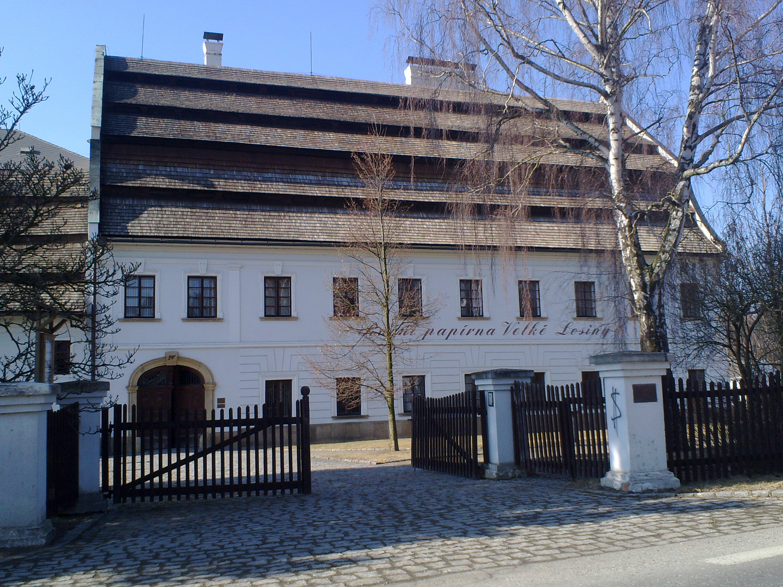
[[[603,477],[609,470],[600,382],[511,388],[514,457],[522,470]]]

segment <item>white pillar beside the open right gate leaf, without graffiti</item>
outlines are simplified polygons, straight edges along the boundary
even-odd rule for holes
[[[519,477],[514,463],[514,420],[511,416],[511,386],[514,381],[529,383],[533,372],[527,369],[491,369],[473,373],[473,383],[484,394],[487,406],[489,463],[484,463],[487,479]]]

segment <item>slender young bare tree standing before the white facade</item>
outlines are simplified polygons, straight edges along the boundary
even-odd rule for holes
[[[405,209],[390,197],[395,177],[390,155],[354,153],[359,179],[370,195],[351,200],[348,213],[359,218],[350,243],[341,247],[348,271],[337,275],[334,317],[327,321],[330,339],[309,365],[337,401],[358,405],[359,381],[366,395],[383,400],[388,409],[389,446],[399,450],[395,398],[402,392],[399,369],[413,361],[421,327],[440,307],[424,300],[421,283],[408,276],[403,216]],[[347,384],[346,384],[347,382]]]

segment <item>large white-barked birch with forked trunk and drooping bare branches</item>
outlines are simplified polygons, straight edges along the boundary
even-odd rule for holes
[[[460,65],[443,76],[500,105],[496,127],[535,145],[536,165],[548,149],[603,170],[594,190],[611,198],[641,349],[668,350],[667,272],[699,221],[691,183],[765,152],[765,125],[783,104],[781,0],[387,0],[385,9],[408,45]],[[467,63],[481,74],[466,74]],[[597,116],[576,116],[553,95],[596,103]],[[667,162],[652,198],[640,172],[648,145]]]

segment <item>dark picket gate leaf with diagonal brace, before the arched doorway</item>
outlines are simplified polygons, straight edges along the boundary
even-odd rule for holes
[[[309,389],[294,416],[103,409],[102,484],[114,502],[310,493]]]

